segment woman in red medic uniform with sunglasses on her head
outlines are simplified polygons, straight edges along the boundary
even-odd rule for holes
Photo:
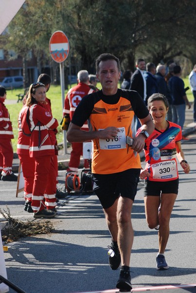
[[[31,207],[35,218],[53,218],[56,206],[56,177],[54,176],[53,157],[58,122],[48,111],[44,84],[39,82],[31,84],[26,105],[29,107],[29,114],[26,115],[26,119],[23,119],[21,127],[25,132],[28,131],[29,127],[31,129],[29,154],[30,158],[35,160]]]

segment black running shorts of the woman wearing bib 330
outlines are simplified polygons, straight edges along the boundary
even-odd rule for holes
[[[154,195],[160,196],[161,193],[178,194],[179,180],[171,181],[150,181],[144,180],[144,196]]]

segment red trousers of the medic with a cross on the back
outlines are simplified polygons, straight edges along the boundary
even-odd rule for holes
[[[77,171],[80,165],[80,156],[83,154],[83,143],[72,143],[69,168],[71,171]],[[89,168],[88,160],[84,160],[84,167]]]

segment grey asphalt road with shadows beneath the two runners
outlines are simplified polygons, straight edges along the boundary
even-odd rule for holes
[[[191,172],[184,174],[178,166],[179,193],[170,222],[165,252],[170,269],[166,271],[156,270],[158,232],[147,227],[143,182],[139,183],[132,211],[135,238],[130,267],[133,288],[196,284],[196,133],[189,138],[182,144]],[[59,188],[63,188],[64,179],[65,171],[60,171]],[[0,181],[0,208],[7,205],[13,217],[33,220],[32,214],[23,210],[23,194],[19,193],[16,198],[16,187],[15,182]],[[58,216],[51,221],[55,233],[23,238],[8,245],[8,251],[4,252],[8,280],[26,293],[114,289],[119,270],[111,271],[108,266],[107,246],[111,237],[96,196],[71,196],[60,200]]]

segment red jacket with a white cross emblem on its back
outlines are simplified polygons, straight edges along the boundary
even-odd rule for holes
[[[73,117],[73,113],[75,111],[75,108],[77,105],[80,103],[82,98],[86,95],[89,95],[93,93],[94,90],[89,87],[88,84],[84,83],[79,83],[75,86],[73,86],[67,93],[67,96],[65,98],[64,102],[64,109],[63,109],[63,114],[69,114],[70,115],[70,120]],[[87,121],[81,128],[82,130],[89,130]]]

